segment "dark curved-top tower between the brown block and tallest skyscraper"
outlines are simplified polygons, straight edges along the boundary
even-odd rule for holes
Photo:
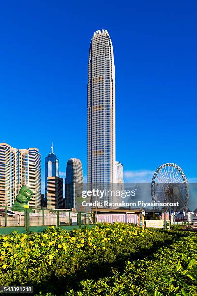
[[[70,158],[66,166],[65,178],[65,207],[77,208],[82,196],[83,171],[80,159]]]

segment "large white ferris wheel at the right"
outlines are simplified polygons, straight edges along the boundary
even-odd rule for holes
[[[186,211],[189,201],[189,184],[183,170],[174,163],[162,164],[155,171],[151,182],[153,202],[169,203],[169,211]],[[177,203],[174,206],[172,204]],[[159,208],[159,206],[155,206]]]

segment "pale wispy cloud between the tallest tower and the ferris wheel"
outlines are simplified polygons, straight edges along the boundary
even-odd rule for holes
[[[155,171],[151,170],[125,171],[124,181],[133,183],[151,182],[154,173]]]

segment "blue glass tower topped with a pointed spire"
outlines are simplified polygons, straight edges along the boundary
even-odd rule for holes
[[[45,200],[47,201],[47,177],[59,177],[59,160],[53,153],[53,143],[51,153],[45,157]]]

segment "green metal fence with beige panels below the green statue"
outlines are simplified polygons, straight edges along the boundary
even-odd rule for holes
[[[25,208],[23,212],[0,207],[0,233],[17,230],[21,233],[40,232],[49,226],[73,229],[96,224],[95,213]]]

